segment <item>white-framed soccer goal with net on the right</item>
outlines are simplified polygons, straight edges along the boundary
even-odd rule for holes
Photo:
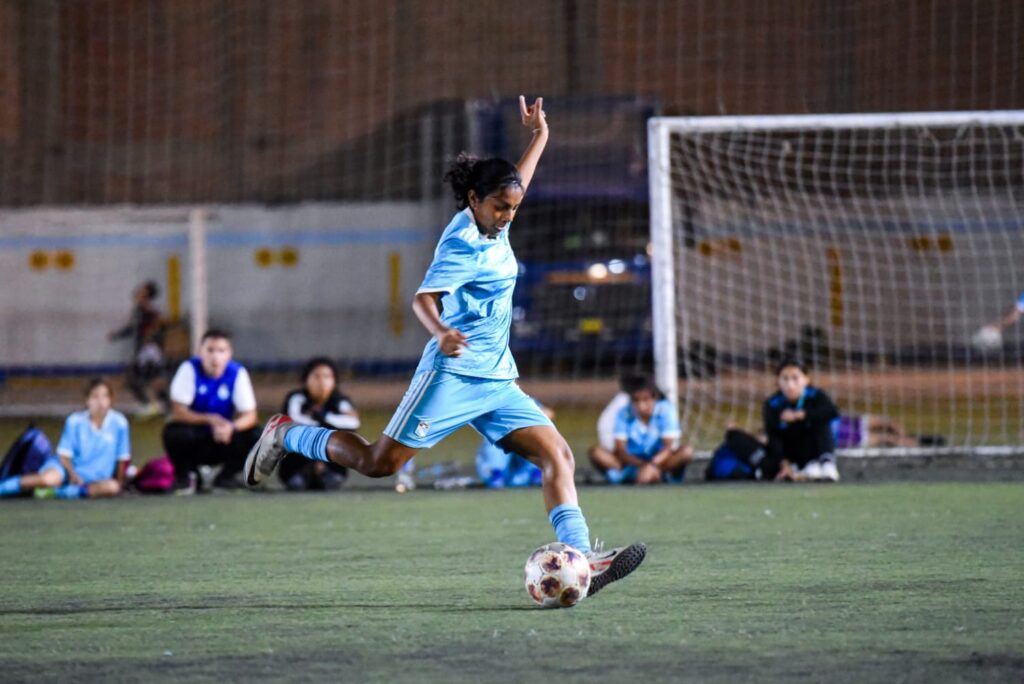
[[[654,118],[648,152],[655,373],[692,441],[759,429],[799,356],[870,428],[850,454],[1021,443],[1022,325],[972,337],[1024,290],[1024,112]]]

